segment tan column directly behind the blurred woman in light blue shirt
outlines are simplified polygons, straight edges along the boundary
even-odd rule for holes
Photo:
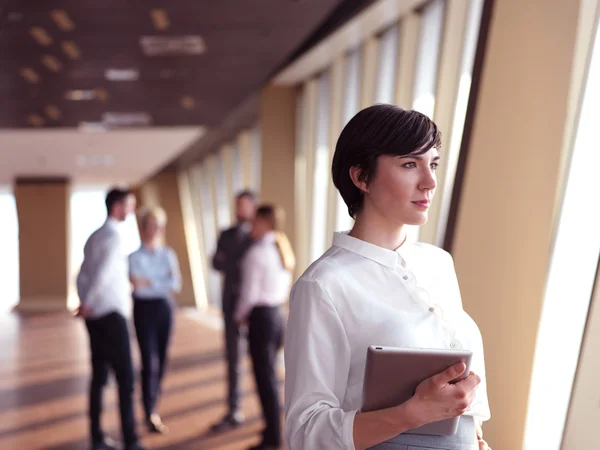
[[[160,206],[165,210],[168,218],[165,241],[177,253],[183,281],[177,303],[179,306],[196,307],[177,172],[165,171],[155,175],[139,187],[139,195],[140,206]]]

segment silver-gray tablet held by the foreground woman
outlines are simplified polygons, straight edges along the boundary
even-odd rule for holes
[[[467,368],[453,382],[460,381],[469,374],[471,356],[472,352],[469,350],[370,346],[367,350],[361,411],[376,411],[400,405],[414,395],[422,381],[463,361]],[[406,433],[451,436],[456,433],[458,422],[459,417],[445,419]]]

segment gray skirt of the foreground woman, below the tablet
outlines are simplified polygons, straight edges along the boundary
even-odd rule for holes
[[[368,450],[477,450],[477,430],[471,416],[461,416],[458,431],[453,436],[399,434]]]

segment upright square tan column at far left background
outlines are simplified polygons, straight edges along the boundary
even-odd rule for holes
[[[17,179],[21,298],[18,310],[67,309],[70,195],[65,179]]]

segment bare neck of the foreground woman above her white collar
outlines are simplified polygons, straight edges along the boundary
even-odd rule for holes
[[[361,211],[349,235],[378,247],[396,250],[406,241],[406,226],[390,222],[374,212]]]

